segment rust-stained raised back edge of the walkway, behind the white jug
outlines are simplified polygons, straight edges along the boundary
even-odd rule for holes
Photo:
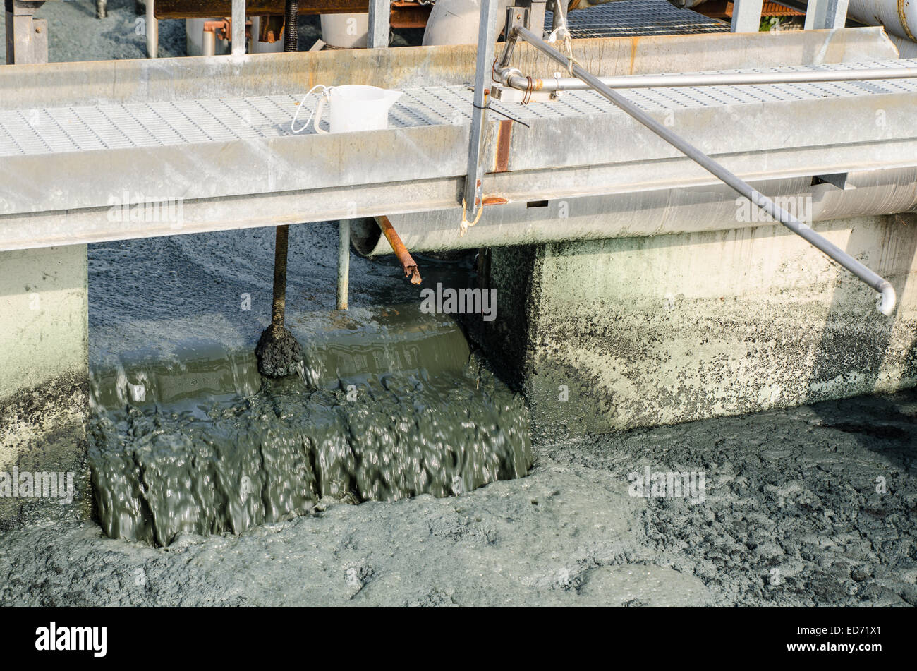
[[[574,44],[586,70],[608,75],[898,58],[882,28],[591,38]],[[16,65],[0,68],[0,109],[305,93],[316,83],[385,88],[462,83],[474,77],[476,54],[477,45],[468,44]],[[514,60],[545,76],[557,70],[527,44],[516,45]]]

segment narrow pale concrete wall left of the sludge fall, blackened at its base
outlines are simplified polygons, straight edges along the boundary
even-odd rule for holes
[[[89,514],[87,283],[85,245],[0,252],[0,529]],[[14,468],[72,473],[74,501],[10,496]]]

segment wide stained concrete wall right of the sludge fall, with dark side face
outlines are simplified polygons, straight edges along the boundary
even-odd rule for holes
[[[813,227],[894,284],[896,314],[878,314],[875,292],[798,236],[762,225],[495,248],[498,316],[472,335],[525,391],[541,434],[914,386],[917,216]]]

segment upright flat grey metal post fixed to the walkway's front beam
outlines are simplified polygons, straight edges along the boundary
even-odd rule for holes
[[[465,217],[474,221],[481,208],[484,166],[481,150],[484,144],[493,67],[493,49],[497,32],[498,0],[481,0],[481,23],[478,27],[478,60],[474,72],[474,109],[471,110],[471,134],[468,149],[468,177],[465,181]]]

